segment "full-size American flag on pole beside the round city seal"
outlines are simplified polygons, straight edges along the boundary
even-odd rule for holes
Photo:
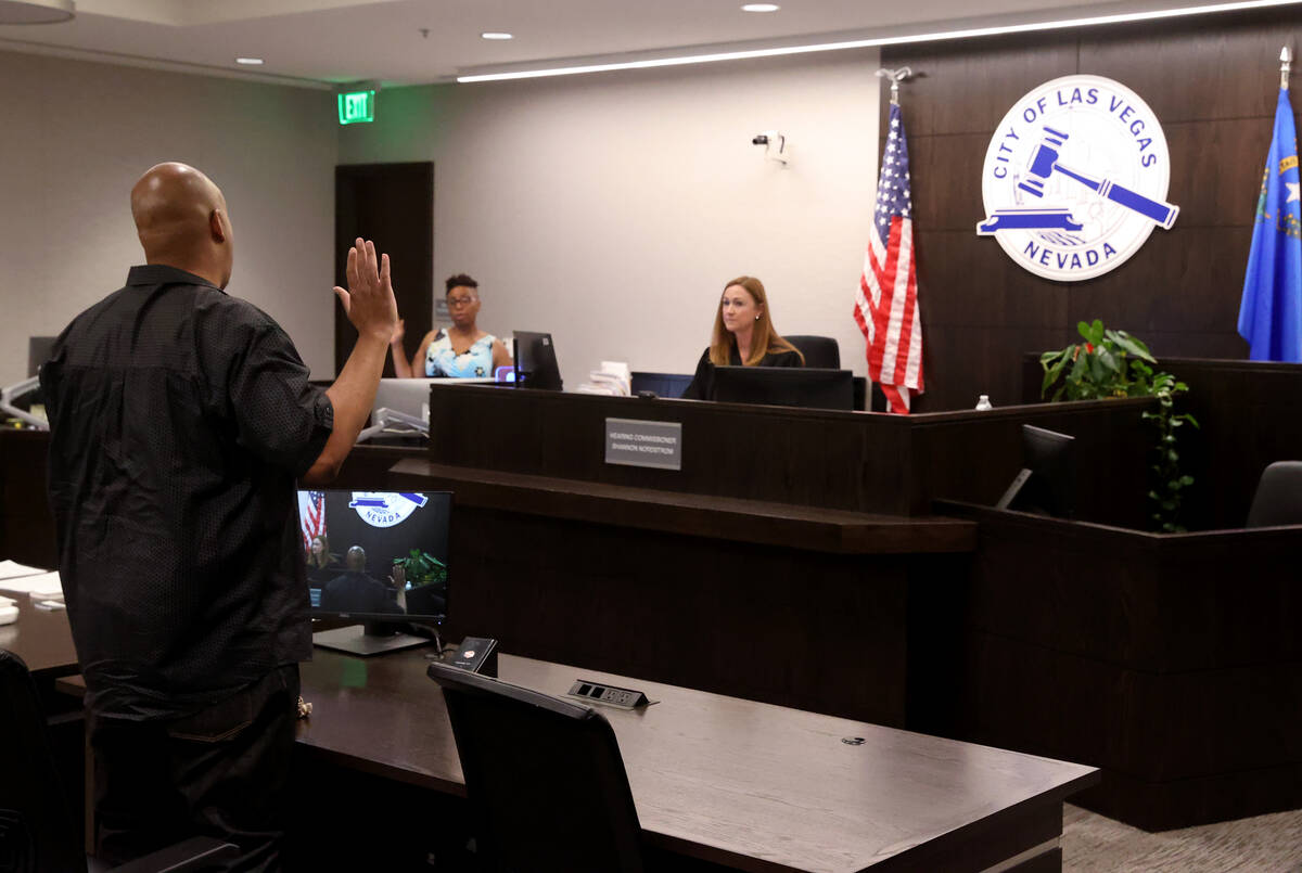
[[[881,385],[892,412],[907,415],[910,396],[923,390],[922,317],[913,264],[909,147],[900,104],[894,101],[878,176],[876,215],[854,298],[854,320],[868,341],[868,379]]]

